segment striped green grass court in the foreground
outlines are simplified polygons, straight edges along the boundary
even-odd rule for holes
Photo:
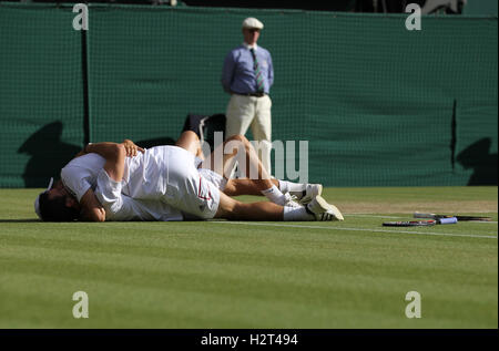
[[[50,224],[40,190],[0,189],[0,328],[498,328],[497,187],[327,188],[344,223]],[[416,210],[493,221],[381,226]]]

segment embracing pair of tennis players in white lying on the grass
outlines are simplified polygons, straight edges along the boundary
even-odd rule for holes
[[[175,146],[146,151],[131,141],[89,144],[61,171],[61,180],[37,198],[35,211],[43,220],[343,220],[320,197],[320,186],[271,179],[244,136],[227,140],[238,142],[240,148],[224,155],[223,165],[243,151],[247,163],[256,165],[257,179],[226,179],[197,168],[196,138],[186,131]],[[284,195],[276,187],[281,184],[295,186],[307,204]],[[228,196],[258,192],[272,202],[244,204]]]

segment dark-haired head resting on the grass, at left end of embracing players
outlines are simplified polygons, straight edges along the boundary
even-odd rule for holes
[[[45,221],[71,221],[80,214],[80,204],[58,180],[52,187],[52,180],[45,192],[41,193],[34,202],[34,211]]]

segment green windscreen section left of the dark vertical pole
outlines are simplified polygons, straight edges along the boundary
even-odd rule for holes
[[[83,143],[70,8],[0,3],[0,186],[47,186]]]

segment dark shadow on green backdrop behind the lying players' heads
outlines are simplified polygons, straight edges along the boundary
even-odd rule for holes
[[[61,168],[81,151],[61,142],[62,130],[60,121],[47,124],[19,147],[18,153],[31,156],[22,174],[26,187],[45,187],[50,177],[59,178]]]

